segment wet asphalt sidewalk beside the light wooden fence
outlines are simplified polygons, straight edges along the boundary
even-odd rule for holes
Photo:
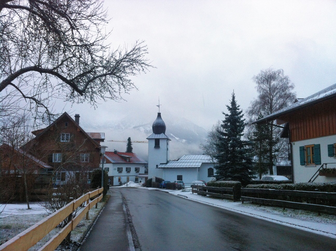
[[[126,251],[128,239],[121,194],[110,189],[111,197],[83,241],[80,251]]]

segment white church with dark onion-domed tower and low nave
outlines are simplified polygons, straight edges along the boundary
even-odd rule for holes
[[[216,173],[210,156],[208,155],[183,155],[178,160],[169,160],[169,137],[166,125],[158,113],[152,126],[153,133],[148,139],[148,176],[160,177],[173,182],[183,180],[191,183],[194,180],[208,182]]]

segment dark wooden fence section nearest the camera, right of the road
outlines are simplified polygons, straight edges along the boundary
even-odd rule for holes
[[[307,192],[307,191],[292,191],[292,190],[274,190],[274,189],[258,189],[258,188],[242,188],[241,201],[251,201],[260,204],[272,206],[280,206],[283,208],[295,208],[303,210],[311,210],[318,212],[326,212],[336,214],[336,207],[320,205],[319,200],[336,200],[336,193],[326,192]],[[282,200],[265,199],[262,197],[276,197]],[[306,201],[293,202],[290,198]],[[308,203],[309,202],[309,203]]]

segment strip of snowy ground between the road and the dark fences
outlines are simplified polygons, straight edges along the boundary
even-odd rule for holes
[[[281,207],[264,205],[259,206],[258,204],[253,204],[249,202],[244,202],[244,204],[242,204],[242,202],[233,202],[226,199],[217,199],[209,196],[205,197],[197,194],[192,194],[191,190],[168,190],[156,189],[152,187],[143,187],[143,189],[159,190],[174,195],[186,196],[189,200],[198,201],[201,203],[213,205],[256,218],[336,238],[336,215],[321,213],[321,215],[319,216],[317,212],[310,212],[306,210],[287,208],[283,210],[283,208]]]

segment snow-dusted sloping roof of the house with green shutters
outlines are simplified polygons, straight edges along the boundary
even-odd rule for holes
[[[279,116],[283,115],[283,114],[286,114],[286,113],[289,113],[289,112],[293,112],[295,110],[298,110],[300,108],[304,108],[306,106],[309,106],[311,104],[314,104],[314,103],[318,103],[318,102],[322,102],[326,99],[330,99],[330,98],[333,98],[333,97],[336,97],[336,84],[333,84],[321,91],[318,91],[317,93],[314,93],[306,98],[302,98],[302,99],[299,99],[297,102],[291,104],[290,106],[278,111],[278,112],[275,112],[275,113],[272,113],[268,116],[265,116],[264,118],[262,119],[259,119],[255,122],[253,122],[252,124],[256,124],[256,123],[262,123],[262,122],[268,122],[268,121],[271,121],[271,120],[274,120],[276,118],[278,118]]]

